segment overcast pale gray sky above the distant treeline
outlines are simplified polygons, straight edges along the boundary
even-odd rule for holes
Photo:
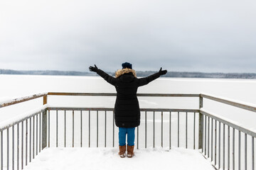
[[[256,72],[255,48],[255,0],[0,1],[0,69]]]

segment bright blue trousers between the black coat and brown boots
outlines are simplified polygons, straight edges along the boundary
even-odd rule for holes
[[[119,128],[119,146],[126,145],[126,135],[127,135],[127,145],[134,146],[135,140],[135,128]]]

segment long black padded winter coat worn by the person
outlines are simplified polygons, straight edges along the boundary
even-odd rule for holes
[[[114,104],[114,120],[117,127],[134,128],[140,124],[139,101],[137,98],[137,89],[139,86],[149,84],[150,81],[160,77],[160,74],[152,74],[149,77],[137,79],[132,72],[122,74],[114,78],[97,70],[97,74],[105,79],[108,83],[115,86],[117,98]]]

